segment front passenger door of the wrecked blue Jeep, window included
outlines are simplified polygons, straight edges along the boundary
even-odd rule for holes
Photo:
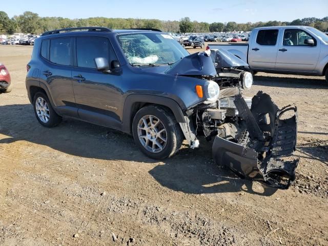
[[[109,39],[79,36],[75,39],[75,46],[72,79],[79,117],[97,125],[119,129],[118,110],[122,95],[118,88],[121,76],[98,71],[94,61],[97,57],[105,57],[109,63],[117,60]]]

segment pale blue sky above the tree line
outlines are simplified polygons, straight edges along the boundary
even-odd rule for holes
[[[9,17],[29,10],[39,16],[68,18],[102,16],[179,20],[189,16],[198,22],[245,23],[291,21],[304,17],[322,18],[328,15],[328,0],[15,0],[5,1],[1,10]]]

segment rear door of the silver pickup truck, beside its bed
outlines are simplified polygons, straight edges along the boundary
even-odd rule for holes
[[[279,29],[258,30],[249,47],[248,61],[254,69],[270,70],[276,65]]]

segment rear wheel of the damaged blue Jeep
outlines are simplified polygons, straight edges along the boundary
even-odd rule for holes
[[[62,118],[53,110],[49,98],[44,93],[35,94],[33,108],[36,119],[44,127],[55,127],[61,122]]]

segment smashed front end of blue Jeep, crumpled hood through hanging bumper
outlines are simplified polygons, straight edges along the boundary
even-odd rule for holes
[[[187,66],[188,65],[188,66]],[[189,67],[188,70],[183,67]],[[253,83],[248,64],[228,51],[209,50],[193,54],[167,73],[214,81],[219,86],[215,101],[203,101],[186,111],[181,129],[191,148],[199,146],[198,136],[213,137],[213,158],[241,178],[260,180],[288,189],[295,180],[297,108],[282,109],[271,97],[258,92],[244,98]]]

